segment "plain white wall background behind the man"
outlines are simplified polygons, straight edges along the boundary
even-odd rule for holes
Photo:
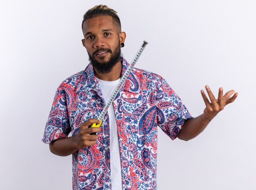
[[[195,139],[158,136],[159,190],[256,189],[256,2],[254,0],[1,0],[0,189],[70,190],[72,159],[41,139],[58,85],[88,64],[83,14],[115,9],[128,62],[163,76],[196,117],[200,90],[239,95]]]

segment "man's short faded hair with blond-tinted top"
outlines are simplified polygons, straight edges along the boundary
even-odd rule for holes
[[[117,11],[110,9],[108,6],[102,5],[102,4],[96,5],[95,7],[92,7],[91,9],[89,9],[83,15],[83,22],[85,22],[85,20],[87,20],[89,18],[93,18],[93,17],[100,16],[100,15],[111,16],[114,19],[115,24],[117,25],[118,28],[120,28],[120,31],[121,31],[121,22],[117,15]],[[82,22],[82,30],[83,30],[83,22]]]

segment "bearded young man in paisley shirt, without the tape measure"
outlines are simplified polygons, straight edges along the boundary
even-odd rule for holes
[[[206,86],[211,102],[201,91],[206,108],[192,118],[162,77],[134,68],[101,127],[89,128],[99,123],[96,118],[129,64],[121,57],[126,33],[121,32],[114,10],[93,7],[85,13],[82,29],[82,43],[91,62],[58,87],[43,142],[56,155],[72,154],[73,189],[154,190],[157,126],[171,139],[192,139],[238,93],[230,97],[232,90],[223,96],[220,88],[215,99]]]

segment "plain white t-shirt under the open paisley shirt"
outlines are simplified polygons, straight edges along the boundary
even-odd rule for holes
[[[121,78],[120,78],[121,79]],[[99,85],[103,94],[105,102],[112,95],[113,91],[117,87],[120,79],[115,81],[100,80]],[[120,159],[120,148],[119,138],[117,132],[117,120],[115,116],[115,110],[113,104],[108,108],[108,117],[110,125],[110,170],[111,170],[111,186],[112,190],[122,190],[122,172],[121,172],[121,159]],[[104,122],[103,122],[104,125]]]

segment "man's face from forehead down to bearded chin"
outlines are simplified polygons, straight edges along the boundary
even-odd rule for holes
[[[109,73],[120,61],[120,43],[125,39],[120,32],[113,18],[108,15],[96,16],[83,23],[83,46],[99,73]]]

